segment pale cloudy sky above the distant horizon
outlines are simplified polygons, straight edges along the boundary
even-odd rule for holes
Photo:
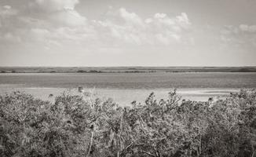
[[[256,1],[0,0],[0,66],[256,66]]]

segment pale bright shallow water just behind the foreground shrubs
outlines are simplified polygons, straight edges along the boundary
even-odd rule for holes
[[[31,95],[41,98],[43,100],[54,100],[54,97],[60,95],[64,91],[71,94],[79,94],[78,89],[64,89],[64,88],[48,88],[48,87],[2,87],[0,94],[11,93],[13,91],[23,91]],[[167,99],[168,93],[171,89],[85,89],[85,92],[93,93],[94,97],[100,97],[107,100],[109,97],[113,98],[116,103],[126,106],[130,105],[133,100],[138,103],[144,103],[150,93],[155,93],[155,99]],[[178,89],[177,94],[186,100],[207,101],[209,97],[218,100],[221,97],[226,97],[229,93],[238,92],[239,89]],[[49,97],[53,94],[53,97]]]

